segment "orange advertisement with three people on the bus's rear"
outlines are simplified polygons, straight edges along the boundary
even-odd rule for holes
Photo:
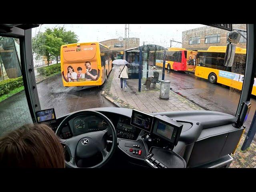
[[[62,77],[66,82],[96,81],[98,64],[96,45],[63,48]]]

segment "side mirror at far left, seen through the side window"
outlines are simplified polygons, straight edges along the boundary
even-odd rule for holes
[[[14,41],[14,38],[6,38],[0,41],[0,57],[9,78],[22,75],[19,52],[20,46]]]

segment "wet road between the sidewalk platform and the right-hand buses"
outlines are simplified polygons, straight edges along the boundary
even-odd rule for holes
[[[182,95],[205,110],[224,112],[231,115],[236,114],[240,99],[239,90],[220,84],[211,84],[206,79],[197,78],[174,70],[166,70],[164,79],[170,80],[172,91]],[[256,109],[255,96],[253,97],[250,100],[252,103],[250,113],[244,124],[246,126],[246,132],[250,128]]]

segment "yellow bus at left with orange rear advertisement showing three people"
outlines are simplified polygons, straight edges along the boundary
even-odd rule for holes
[[[62,45],[60,63],[65,87],[100,86],[112,70],[112,50],[98,42]]]

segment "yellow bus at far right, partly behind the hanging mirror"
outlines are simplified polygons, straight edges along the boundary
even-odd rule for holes
[[[224,66],[226,46],[210,46],[208,50],[198,50],[195,76],[208,79],[211,83],[220,83],[242,90],[246,62],[246,49],[236,47],[232,67]],[[252,94],[256,95],[256,79]]]

